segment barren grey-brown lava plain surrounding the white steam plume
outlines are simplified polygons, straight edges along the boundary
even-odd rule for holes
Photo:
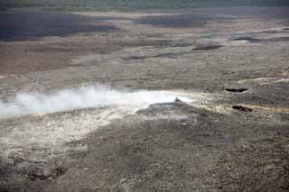
[[[97,83],[197,98],[1,118],[1,190],[288,191],[288,8],[180,12],[75,13],[117,30],[1,41],[3,102]]]

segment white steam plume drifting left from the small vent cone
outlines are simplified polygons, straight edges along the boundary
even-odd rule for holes
[[[0,116],[47,114],[109,105],[139,105],[143,108],[154,103],[172,102],[176,96],[168,91],[129,92],[101,86],[66,89],[51,95],[20,93],[15,96],[14,101],[0,101]],[[181,99],[188,101],[182,96]]]

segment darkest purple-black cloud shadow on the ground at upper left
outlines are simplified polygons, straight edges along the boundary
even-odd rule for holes
[[[12,11],[0,13],[0,41],[34,41],[48,36],[70,36],[79,32],[114,32],[109,18],[78,14]]]

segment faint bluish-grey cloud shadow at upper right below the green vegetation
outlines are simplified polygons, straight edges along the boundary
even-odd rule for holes
[[[259,17],[264,19],[280,19],[289,23],[289,6],[280,7],[208,7],[188,10],[162,10],[172,15],[145,16],[135,23],[150,24],[159,27],[188,28],[201,27],[210,22],[232,23],[239,17]],[[174,15],[173,15],[174,14]]]

